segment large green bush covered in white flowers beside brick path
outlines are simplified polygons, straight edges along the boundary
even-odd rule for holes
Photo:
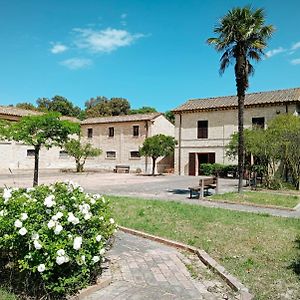
[[[0,265],[32,290],[62,297],[86,286],[115,230],[107,201],[72,182],[0,193]]]

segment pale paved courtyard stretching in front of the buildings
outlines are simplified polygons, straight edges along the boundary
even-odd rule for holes
[[[0,173],[0,187],[16,186],[28,187],[32,185],[32,171]],[[79,183],[86,191],[106,195],[133,196],[145,199],[160,199],[165,201],[182,201],[184,203],[202,205],[206,207],[219,207],[224,209],[266,213],[280,217],[300,218],[300,209],[286,211],[273,208],[258,208],[242,204],[228,204],[205,200],[189,199],[189,186],[195,186],[199,182],[194,176],[143,176],[137,174],[115,173],[62,173],[58,170],[42,170],[40,183],[52,183],[55,181],[72,180]],[[231,192],[237,190],[237,180],[219,179],[219,192]]]

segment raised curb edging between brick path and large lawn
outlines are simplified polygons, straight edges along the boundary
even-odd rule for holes
[[[200,250],[196,247],[189,246],[183,243],[179,243],[176,241],[164,239],[152,234],[144,233],[142,231],[138,231],[135,229],[130,229],[123,226],[118,226],[118,228],[132,235],[140,236],[143,238],[147,238],[152,241],[156,241],[167,246],[183,249],[194,253],[198,256],[198,258],[209,268],[211,268],[216,274],[218,274],[234,291],[240,293],[240,300],[251,300],[253,299],[253,295],[249,293],[249,290],[234,276],[229,274],[224,267],[219,265],[213,258],[211,258],[204,250]]]

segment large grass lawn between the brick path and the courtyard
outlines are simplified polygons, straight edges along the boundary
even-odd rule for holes
[[[120,225],[204,249],[249,287],[256,299],[300,299],[299,219],[178,202],[107,198]]]

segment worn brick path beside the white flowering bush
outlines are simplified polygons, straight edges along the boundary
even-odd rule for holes
[[[200,261],[154,241],[118,232],[109,259],[112,284],[85,300],[238,299]],[[184,263],[193,263],[201,280],[193,279]]]

